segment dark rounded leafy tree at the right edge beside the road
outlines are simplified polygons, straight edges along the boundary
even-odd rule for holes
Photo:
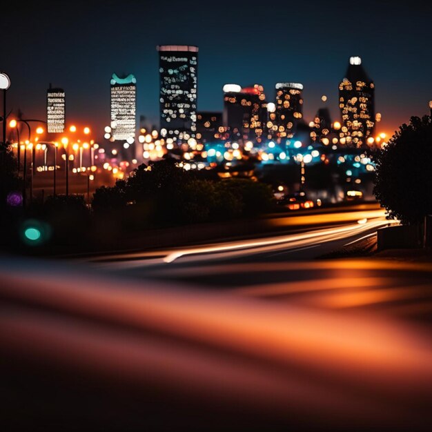
[[[373,157],[373,193],[389,219],[418,224],[432,214],[432,118],[411,117]]]

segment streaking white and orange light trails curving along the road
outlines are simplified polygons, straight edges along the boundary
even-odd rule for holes
[[[373,235],[375,230],[389,224],[398,224],[397,221],[389,221],[385,218],[383,209],[366,209],[339,213],[315,213],[311,215],[299,215],[291,217],[275,217],[269,219],[271,225],[285,226],[286,224],[298,226],[314,226],[321,224],[339,223],[338,226],[326,226],[313,228],[303,233],[287,235],[271,235],[259,239],[241,239],[226,241],[219,244],[204,246],[190,246],[186,248],[173,248],[165,251],[126,253],[86,259],[96,266],[110,269],[139,268],[171,264],[181,259],[181,262],[199,262],[214,259],[227,259],[256,255],[259,253],[289,253],[300,248],[317,247],[328,242],[351,239],[358,235]],[[343,223],[343,224],[342,224]],[[342,225],[341,225],[342,224]],[[362,239],[365,238],[361,237]],[[353,242],[357,241],[354,239]],[[352,244],[352,242],[347,243]]]

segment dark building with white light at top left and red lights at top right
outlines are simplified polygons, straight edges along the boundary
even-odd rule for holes
[[[223,123],[231,139],[256,139],[266,130],[267,101],[263,86],[254,84],[242,88],[226,84],[224,90]]]

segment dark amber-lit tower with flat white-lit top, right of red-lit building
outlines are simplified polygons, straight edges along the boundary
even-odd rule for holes
[[[297,124],[303,118],[303,84],[276,84],[275,135],[277,137],[292,137]]]

